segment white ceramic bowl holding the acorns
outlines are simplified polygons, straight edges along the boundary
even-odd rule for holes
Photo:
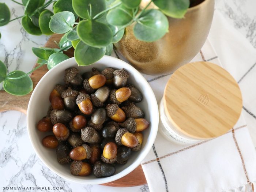
[[[145,118],[150,121],[150,126],[148,129],[143,131],[142,148],[139,152],[133,152],[125,165],[117,165],[116,173],[113,176],[104,178],[96,178],[93,174],[87,177],[73,176],[70,173],[70,164],[59,164],[55,149],[46,148],[41,143],[42,138],[52,133],[39,132],[36,128],[37,122],[46,115],[48,107],[50,106],[49,94],[56,84],[64,84],[64,70],[69,67],[78,68],[80,70],[80,74],[86,71],[91,71],[91,68],[93,67],[97,67],[99,70],[103,70],[106,67],[113,67],[116,69],[125,68],[125,70],[129,72],[130,76],[128,83],[134,84],[143,94],[142,102],[136,105],[143,109]],[[104,56],[97,63],[81,67],[76,64],[75,58],[73,57],[52,68],[38,82],[31,95],[27,109],[27,129],[35,152],[41,161],[44,162],[45,165],[54,173],[67,180],[82,184],[103,184],[117,180],[132,172],[132,170],[139,166],[142,160],[146,157],[157,135],[158,106],[155,95],[146,79],[144,79],[144,77],[131,65],[114,57]]]

